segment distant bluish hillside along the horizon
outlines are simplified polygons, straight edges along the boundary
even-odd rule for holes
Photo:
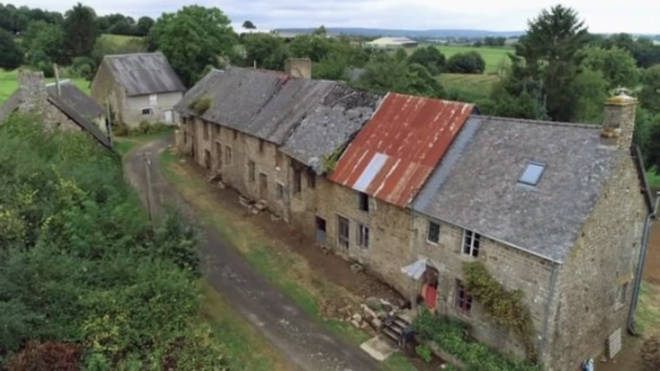
[[[329,35],[351,36],[395,36],[411,38],[483,38],[486,36],[515,37],[524,34],[523,31],[488,31],[488,30],[393,30],[385,28],[359,28],[359,27],[328,27]],[[275,31],[290,34],[308,34],[314,28],[279,28]]]

